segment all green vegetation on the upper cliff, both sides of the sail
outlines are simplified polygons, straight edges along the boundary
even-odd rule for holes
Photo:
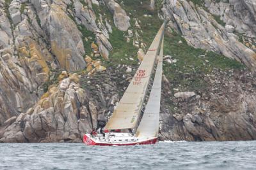
[[[122,8],[129,13],[131,18],[131,27],[129,28],[133,34],[137,31],[140,34],[140,40],[145,43],[146,50],[154,36],[163,24],[158,17],[158,11],[150,9],[149,1],[116,1]],[[160,2],[160,1],[159,1]],[[193,0],[195,4],[202,4],[200,0]],[[158,3],[157,5],[161,5]],[[113,32],[109,33],[109,41],[113,46],[113,51],[109,54],[109,61],[104,61],[104,66],[115,68],[119,64],[126,64],[134,68],[138,67],[137,51],[138,48],[132,45],[133,37],[127,43],[127,32],[119,31],[113,22],[113,14],[108,10],[107,6],[97,6],[93,4],[93,10],[99,19],[100,14],[103,20],[108,20]],[[216,17],[214,17],[216,19]],[[136,27],[135,21],[138,21],[141,29]],[[220,20],[217,20],[220,22]],[[221,25],[225,23],[220,23]],[[83,43],[86,54],[90,55],[91,41],[85,41],[85,38],[92,37],[95,39],[93,32],[86,30],[83,25],[77,25],[83,34]],[[164,74],[174,87],[180,90],[200,90],[208,87],[207,83],[202,79],[202,74],[209,74],[214,69],[228,71],[229,69],[243,69],[244,66],[236,60],[228,59],[223,55],[208,52],[202,49],[196,49],[189,46],[188,43],[179,32],[173,31],[170,27],[166,27],[164,34],[164,55],[170,55],[172,64],[164,62]],[[135,69],[133,69],[135,71]]]

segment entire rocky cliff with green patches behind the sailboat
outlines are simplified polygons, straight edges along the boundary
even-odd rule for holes
[[[163,18],[160,139],[255,139],[256,3],[0,0],[0,141],[81,142]]]

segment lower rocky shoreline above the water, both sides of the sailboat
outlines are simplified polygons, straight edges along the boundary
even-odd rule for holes
[[[70,74],[26,113],[4,122],[1,142],[81,142],[83,134],[106,121],[124,92],[125,81],[117,81],[125,67],[97,76]],[[118,76],[117,76],[118,75]],[[106,82],[102,82],[102,78]],[[163,78],[160,140],[233,141],[256,139],[255,78],[250,71],[214,70],[202,78],[210,86],[196,92],[177,92]],[[124,78],[123,78],[124,80]],[[83,90],[80,83],[92,83]],[[123,89],[122,89],[123,88]],[[122,94],[121,94],[122,95]],[[172,103],[173,111],[168,107]]]

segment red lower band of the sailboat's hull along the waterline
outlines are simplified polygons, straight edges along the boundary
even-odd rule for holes
[[[134,142],[134,143],[97,143],[95,141],[93,141],[92,139],[90,139],[88,136],[86,136],[84,134],[84,138],[83,138],[83,142],[86,145],[96,145],[96,146],[128,146],[128,145],[150,145],[150,144],[155,144],[157,142],[157,138],[154,139],[150,139],[147,141],[140,141],[140,142]]]

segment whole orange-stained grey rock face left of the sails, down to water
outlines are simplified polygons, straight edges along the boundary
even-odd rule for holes
[[[77,141],[81,140],[80,131],[84,133],[97,127],[97,107],[84,96],[86,93],[79,89],[77,81],[67,78],[61,81],[60,87],[52,87],[45,93],[58,75],[56,70],[81,71],[86,66],[81,25],[96,35],[94,41],[104,59],[108,59],[113,49],[103,21],[96,24],[92,2],[84,2],[0,2],[0,134],[4,135],[3,141]],[[115,6],[116,24],[120,25],[120,17],[126,18],[129,24],[125,11],[117,3]],[[120,25],[121,29],[124,27]],[[106,70],[98,65],[95,65],[97,71]],[[45,96],[46,99],[42,99]],[[40,122],[42,118],[45,121]]]

